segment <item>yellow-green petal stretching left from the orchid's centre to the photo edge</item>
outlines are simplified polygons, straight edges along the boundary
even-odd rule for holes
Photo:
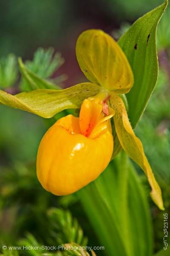
[[[38,89],[15,96],[0,90],[0,103],[50,118],[67,108],[79,108],[82,101],[99,92],[93,83],[82,83],[64,90]]]

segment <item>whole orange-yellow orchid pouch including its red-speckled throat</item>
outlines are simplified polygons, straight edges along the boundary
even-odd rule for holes
[[[55,195],[71,194],[95,180],[108,166],[113,153],[113,114],[104,113],[108,109],[103,102],[100,94],[85,99],[79,117],[62,117],[42,138],[37,176],[46,190]]]

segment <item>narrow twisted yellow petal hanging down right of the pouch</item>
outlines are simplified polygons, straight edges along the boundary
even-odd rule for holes
[[[164,209],[161,189],[155,180],[152,169],[147,161],[144,154],[143,146],[139,138],[137,138],[133,132],[130,125],[125,105],[122,99],[113,93],[111,96],[111,105],[115,110],[114,124],[116,128],[116,133],[122,148],[125,152],[143,169],[144,173],[147,175],[147,179],[151,186],[150,196],[154,203],[161,209]]]

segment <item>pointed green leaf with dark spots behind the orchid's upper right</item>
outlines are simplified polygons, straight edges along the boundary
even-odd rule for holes
[[[142,115],[156,85],[156,29],[166,7],[167,0],[136,20],[118,42],[130,62],[134,75],[133,87],[127,94],[129,118],[133,127]]]

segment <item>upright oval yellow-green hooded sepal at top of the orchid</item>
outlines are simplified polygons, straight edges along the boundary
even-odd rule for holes
[[[114,39],[102,30],[83,32],[76,44],[79,66],[92,82],[108,90],[127,93],[133,85],[129,62]]]

